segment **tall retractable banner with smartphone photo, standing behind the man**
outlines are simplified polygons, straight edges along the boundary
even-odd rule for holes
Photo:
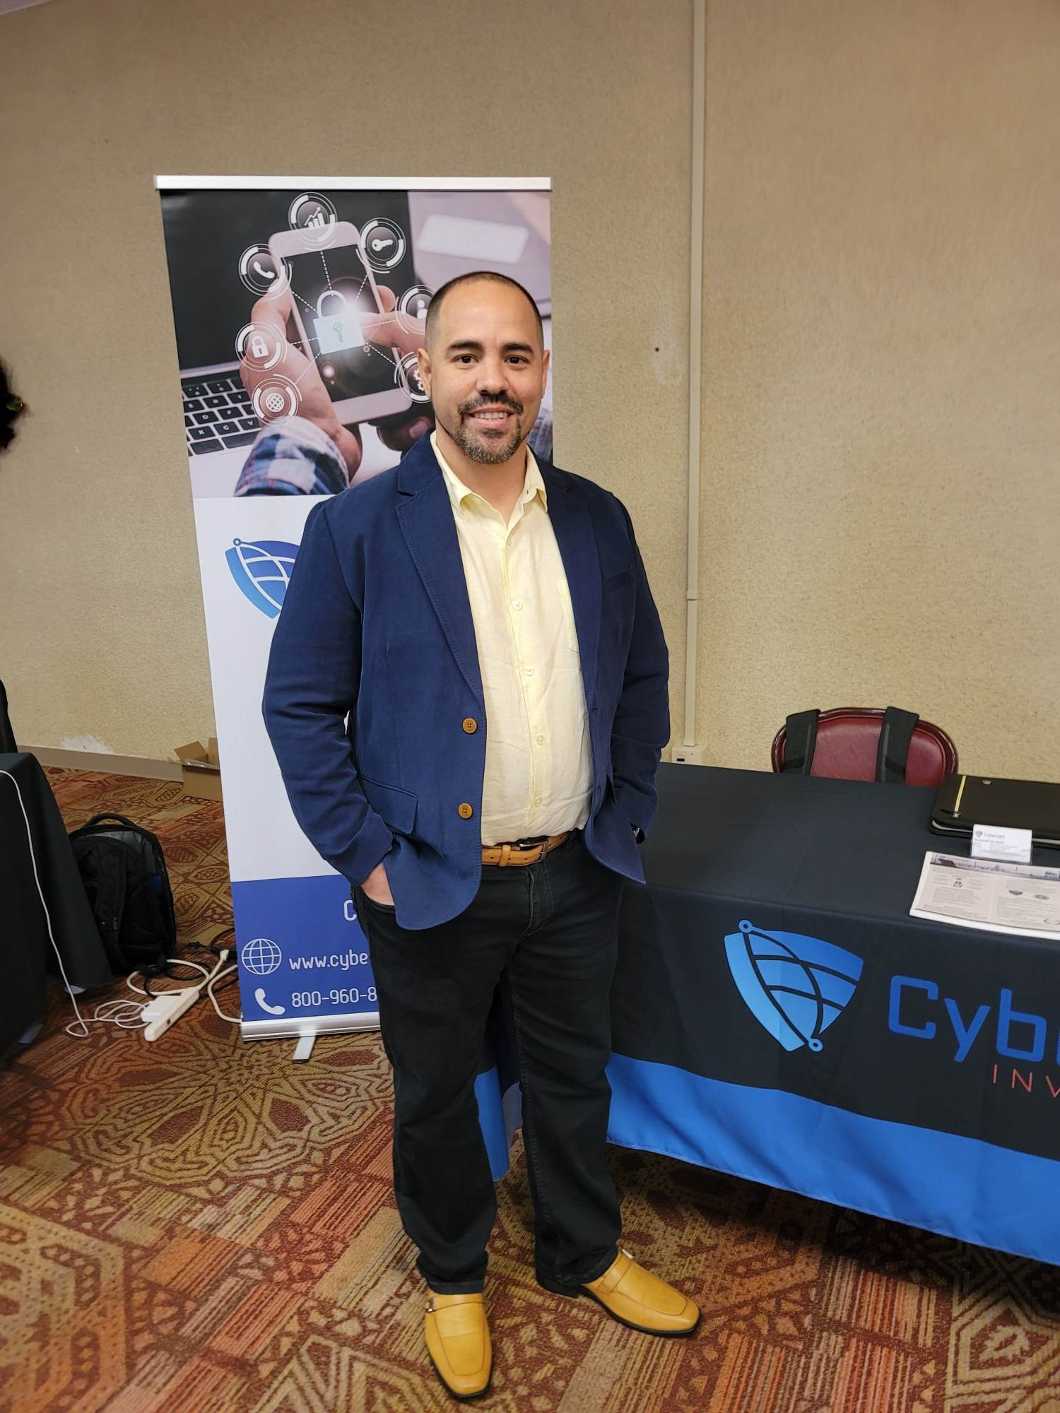
[[[551,348],[547,178],[155,177],[206,617],[242,1033],[377,1024],[349,882],[287,803],[261,719],[314,496],[434,427],[416,372],[434,290],[496,270]],[[551,383],[530,434],[551,458]],[[359,880],[356,880],[359,882]]]

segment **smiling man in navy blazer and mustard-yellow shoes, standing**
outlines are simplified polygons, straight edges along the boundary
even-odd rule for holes
[[[492,1366],[496,1200],[473,1085],[497,985],[538,1283],[649,1334],[691,1334],[700,1313],[619,1248],[605,1160],[622,879],[643,882],[670,729],[633,527],[526,445],[548,353],[522,285],[444,285],[418,359],[435,431],[310,513],[264,718],[300,825],[353,883],[427,1349],[466,1399]]]

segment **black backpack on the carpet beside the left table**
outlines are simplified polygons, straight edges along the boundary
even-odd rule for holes
[[[122,814],[96,814],[69,838],[114,975],[172,957],[177,918],[155,835]]]

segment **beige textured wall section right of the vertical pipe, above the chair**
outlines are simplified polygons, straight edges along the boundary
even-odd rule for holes
[[[709,759],[888,705],[1060,780],[1060,4],[717,0]]]

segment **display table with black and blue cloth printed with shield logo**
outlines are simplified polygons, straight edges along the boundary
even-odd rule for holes
[[[924,852],[968,852],[933,798],[660,767],[609,1137],[1060,1263],[1060,945],[909,917]]]

